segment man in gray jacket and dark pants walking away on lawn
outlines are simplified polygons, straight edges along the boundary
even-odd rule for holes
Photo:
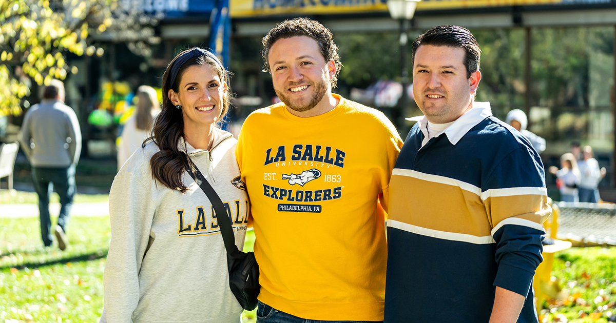
[[[81,153],[81,129],[75,111],[64,104],[64,84],[54,79],[45,87],[43,100],[28,110],[20,136],[22,150],[30,159],[34,190],[39,197],[41,237],[52,244],[49,195],[60,196],[60,215],[54,234],[60,250],[67,247],[68,218],[75,195],[75,166]]]

